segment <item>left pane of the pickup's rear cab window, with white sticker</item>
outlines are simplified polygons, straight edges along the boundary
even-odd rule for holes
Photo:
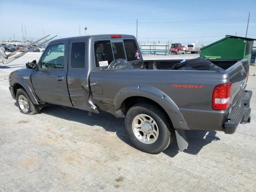
[[[94,54],[97,67],[108,66],[114,60],[110,40],[96,41]]]

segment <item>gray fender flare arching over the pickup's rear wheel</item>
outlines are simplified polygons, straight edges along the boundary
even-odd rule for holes
[[[121,105],[126,98],[132,96],[141,96],[155,101],[168,114],[175,129],[189,130],[188,124],[175,102],[161,90],[145,84],[133,84],[117,92],[114,98],[116,116],[123,117],[120,115]]]

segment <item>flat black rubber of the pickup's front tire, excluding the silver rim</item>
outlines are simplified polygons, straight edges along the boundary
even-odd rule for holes
[[[19,104],[19,96],[24,96],[24,98],[26,98],[27,100],[27,103],[28,103],[28,112],[24,112],[21,107],[20,107],[20,104]],[[35,114],[38,114],[40,112],[39,110],[39,106],[34,104],[32,102],[32,100],[30,99],[30,97],[28,96],[27,92],[20,88],[17,90],[17,93],[16,93],[16,102],[18,104],[18,107],[19,107],[19,110],[21,113],[23,114],[28,114],[28,115],[35,115]]]

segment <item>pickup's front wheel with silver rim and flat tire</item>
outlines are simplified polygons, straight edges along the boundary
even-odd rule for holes
[[[18,103],[20,112],[24,114],[34,115],[40,112],[39,106],[33,104],[26,91],[22,88],[17,90],[16,101]]]

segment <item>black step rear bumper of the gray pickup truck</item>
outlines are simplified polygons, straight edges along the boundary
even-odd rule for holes
[[[228,122],[225,122],[224,124],[226,134],[233,134],[234,132],[236,132],[239,124],[250,123],[251,98],[252,91],[244,91],[240,98],[240,101],[237,102],[237,105],[231,108],[231,112],[228,115]]]

